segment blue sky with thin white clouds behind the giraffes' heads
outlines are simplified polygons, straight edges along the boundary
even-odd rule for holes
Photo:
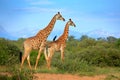
[[[120,33],[120,0],[0,0],[0,27],[16,38],[30,37],[58,11],[76,24],[70,27],[73,36],[95,30]],[[61,35],[66,22],[57,21],[51,34]]]

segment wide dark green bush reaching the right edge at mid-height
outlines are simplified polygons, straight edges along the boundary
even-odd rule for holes
[[[104,47],[89,48],[81,51],[79,54],[79,59],[86,61],[90,65],[95,66],[120,66],[120,51],[117,49]]]

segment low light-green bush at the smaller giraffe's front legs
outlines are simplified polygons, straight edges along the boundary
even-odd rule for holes
[[[60,71],[70,73],[94,70],[86,61],[80,61],[79,58],[74,58],[74,55],[71,56],[68,54],[64,62],[62,62],[60,60],[60,55],[56,54],[52,59],[52,66],[57,67]]]

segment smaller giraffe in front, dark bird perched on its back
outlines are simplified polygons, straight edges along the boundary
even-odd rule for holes
[[[53,42],[50,42],[46,45],[46,48],[44,49],[44,53],[45,53],[45,59],[47,61],[47,67],[48,69],[50,69],[50,64],[51,64],[51,58],[54,54],[55,51],[60,51],[61,52],[61,60],[64,60],[64,49],[66,47],[66,41],[68,38],[68,32],[69,32],[69,26],[76,26],[74,24],[74,22],[69,19],[69,21],[66,23],[65,25],[65,29],[63,34],[57,39],[55,40],[55,38],[53,38]],[[48,55],[47,55],[48,52]]]

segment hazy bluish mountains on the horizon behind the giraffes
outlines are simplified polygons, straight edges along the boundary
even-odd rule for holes
[[[28,38],[36,35],[39,32],[38,28],[32,28],[32,29],[23,29],[21,31],[15,31],[11,34],[8,33],[4,27],[0,26],[0,37],[7,38],[11,40],[17,40],[18,38]],[[53,30],[52,33],[48,36],[48,40],[52,40],[54,36],[57,35],[57,38],[63,34],[62,30]],[[110,33],[104,30],[93,30],[89,32],[77,32],[69,30],[69,36],[74,36],[76,39],[80,39],[82,35],[87,35],[92,38],[99,38],[99,37],[108,37],[113,36],[116,38],[120,38],[120,32],[116,33]],[[56,39],[57,39],[56,38]]]

